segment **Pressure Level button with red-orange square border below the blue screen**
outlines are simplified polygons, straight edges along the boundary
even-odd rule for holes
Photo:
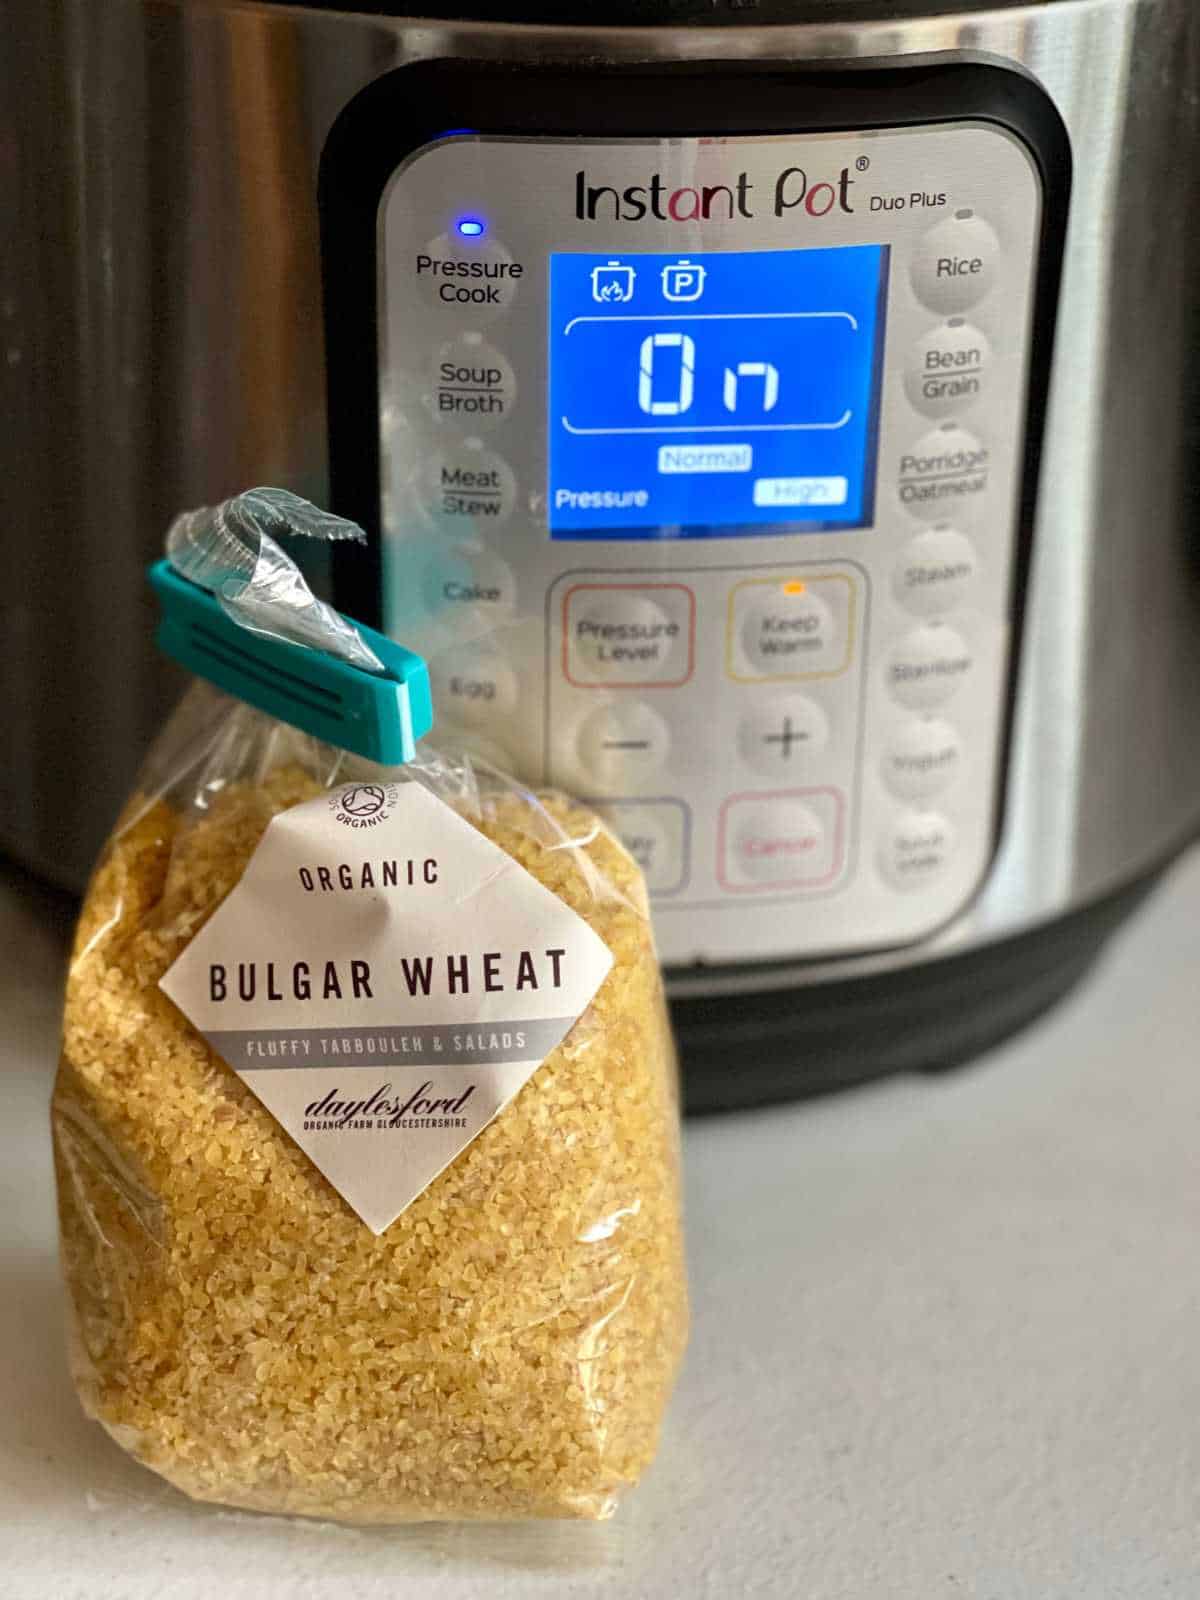
[[[694,606],[683,584],[576,584],[563,600],[568,680],[624,688],[686,683]]]

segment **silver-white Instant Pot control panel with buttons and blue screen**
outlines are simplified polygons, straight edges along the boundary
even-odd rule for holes
[[[984,120],[448,134],[378,210],[384,624],[666,960],[915,941],[997,842],[1042,211]]]

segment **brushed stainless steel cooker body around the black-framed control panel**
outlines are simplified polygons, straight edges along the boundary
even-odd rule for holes
[[[752,16],[739,11],[738,18]],[[325,491],[317,173],[406,62],[893,62],[1030,74],[1074,195],[1003,829],[968,909],[917,946],[675,974],[778,990],[1003,941],[1154,872],[1200,811],[1195,549],[1200,21],[1190,0],[792,6],[795,21],[566,26],[66,0],[5,70],[11,405],[0,838],[78,882],[176,691],[138,571],[181,504]],[[21,78],[18,83],[16,78]],[[446,107],[453,125],[462,107]],[[720,104],[714,104],[720,131]],[[336,315],[330,336],[338,338]],[[1190,498],[1189,498],[1190,496]],[[1190,510],[1189,510],[1190,507]],[[51,693],[53,690],[53,693]]]

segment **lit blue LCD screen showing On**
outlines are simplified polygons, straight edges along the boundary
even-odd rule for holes
[[[886,245],[550,254],[555,539],[874,515]]]

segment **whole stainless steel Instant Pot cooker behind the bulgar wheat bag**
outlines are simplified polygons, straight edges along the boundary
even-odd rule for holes
[[[1189,0],[16,26],[29,866],[78,882],[176,690],[165,522],[256,482],[368,530],[328,582],[446,734],[642,861],[693,1106],[984,1048],[1192,838]]]

